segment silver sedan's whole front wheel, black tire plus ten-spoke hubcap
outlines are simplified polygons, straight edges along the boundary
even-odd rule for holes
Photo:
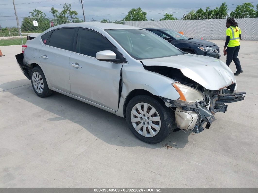
[[[175,128],[175,114],[163,101],[147,95],[133,97],[126,107],[129,129],[140,140],[156,144]]]

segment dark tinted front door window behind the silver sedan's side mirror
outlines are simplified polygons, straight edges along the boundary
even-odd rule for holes
[[[116,58],[122,60],[122,55],[117,49],[99,33],[79,29],[77,36],[76,52],[87,56],[96,57],[96,53],[103,50],[111,50],[116,53]],[[122,62],[122,61],[119,61]]]

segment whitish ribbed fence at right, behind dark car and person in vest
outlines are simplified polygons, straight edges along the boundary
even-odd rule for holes
[[[258,40],[258,18],[236,19],[243,40]],[[139,28],[168,28],[189,38],[225,40],[226,20],[172,20],[172,21],[126,21],[125,25]]]

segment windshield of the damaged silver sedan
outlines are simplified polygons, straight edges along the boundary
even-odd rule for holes
[[[181,55],[176,47],[143,29],[106,30],[133,58],[149,59]]]

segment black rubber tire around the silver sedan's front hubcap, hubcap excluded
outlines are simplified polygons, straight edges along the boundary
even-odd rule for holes
[[[162,102],[163,101],[159,101],[151,96],[138,95],[132,98],[128,103],[126,107],[126,121],[129,126],[129,129],[138,139],[150,144],[156,144],[166,139],[170,135],[170,133],[174,130],[175,128],[174,112],[171,111],[168,107],[166,107],[164,102],[162,104]],[[134,107],[134,105],[136,105],[137,103],[148,103],[157,110],[160,116],[161,127],[158,134],[155,135],[154,137],[144,137],[134,129],[133,124],[131,122],[131,110]]]

